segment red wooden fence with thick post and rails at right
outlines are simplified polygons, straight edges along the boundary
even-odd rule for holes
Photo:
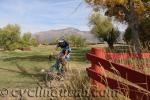
[[[142,57],[150,58],[150,53],[143,53]],[[106,60],[107,57],[112,57],[118,59],[120,54],[116,53],[105,53],[105,50],[93,48],[91,53],[87,54],[87,59],[91,61],[92,67],[87,68],[88,76],[95,81],[93,85],[98,85],[98,88],[104,90],[105,87],[110,87],[112,89],[118,89],[124,95],[128,92],[129,97],[132,100],[150,100],[150,76],[143,74],[141,72],[135,71],[127,66],[119,65]],[[127,59],[128,57],[141,57],[135,54],[124,54],[121,57]],[[108,59],[108,58],[107,58]],[[94,68],[96,67],[96,68]],[[99,68],[98,68],[99,67]],[[119,76],[132,82],[129,83],[121,82],[120,80],[107,77],[106,71],[110,71],[116,74],[118,72]],[[96,84],[95,84],[96,83]],[[100,85],[99,85],[99,84]],[[102,88],[101,88],[102,86]]]

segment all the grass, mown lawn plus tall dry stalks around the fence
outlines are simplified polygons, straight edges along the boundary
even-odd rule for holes
[[[95,45],[96,47],[105,47],[104,45]],[[90,46],[90,47],[95,47]],[[88,48],[73,48],[72,52],[72,61],[69,62],[69,74],[68,78],[64,81],[53,81],[53,89],[60,90],[87,90],[90,93],[90,89],[93,87],[91,86],[91,82],[85,69],[90,67],[91,64],[86,60],[85,54],[89,52],[90,47]],[[15,51],[15,52],[0,52],[0,85],[1,87],[6,88],[30,88],[30,87],[37,87],[42,86],[43,88],[49,88],[44,85],[43,76],[40,76],[39,71],[41,69],[48,69],[53,63],[54,58],[51,61],[48,60],[49,54],[53,57],[58,53],[58,51],[54,50],[54,46],[40,46],[37,48],[32,48],[33,51],[31,52],[22,52],[22,51]],[[141,65],[144,65],[149,62],[149,59],[141,59]],[[16,62],[18,66],[16,66]],[[137,67],[139,64],[139,60],[137,59],[128,59],[128,60],[116,60],[116,63],[120,64],[133,64],[134,69],[139,70]],[[144,67],[148,68],[148,67]],[[3,69],[8,69],[3,70]],[[11,71],[9,71],[11,70]],[[12,70],[14,72],[12,72]],[[123,82],[127,82],[122,78],[118,78],[120,74],[117,70],[114,70],[117,74],[114,75],[112,73],[107,73],[108,76],[118,79],[118,81],[122,80]],[[18,73],[19,72],[19,73]],[[31,74],[32,73],[32,74]],[[149,74],[148,70],[144,70],[144,73]],[[34,76],[35,74],[35,76]],[[3,76],[2,76],[3,75]],[[107,82],[107,81],[106,81]],[[8,84],[7,84],[8,83]],[[132,83],[130,83],[132,84]],[[49,88],[49,89],[52,89]],[[140,87],[139,87],[140,88]],[[126,97],[120,93],[116,93],[115,91],[107,88],[106,91],[111,91],[111,93],[106,93],[105,96],[102,96],[101,93],[94,97],[93,94],[88,95],[81,95],[81,91],[77,92],[75,96],[66,96],[57,98],[53,97],[56,100],[128,100],[128,92],[126,93]],[[99,93],[99,92],[96,92]],[[112,96],[113,94],[113,96]],[[72,94],[73,95],[73,94]],[[49,100],[49,97],[45,98],[29,98],[27,96],[23,97],[23,100]],[[7,100],[12,100],[12,98],[8,97]],[[13,98],[14,99],[14,98]],[[20,99],[20,98],[18,98]],[[0,98],[1,100],[1,98]],[[16,100],[16,99],[15,99]]]

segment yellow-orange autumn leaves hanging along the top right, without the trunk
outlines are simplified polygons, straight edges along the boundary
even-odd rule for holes
[[[130,11],[129,8],[129,0],[87,0],[90,2],[92,5],[105,5],[108,8],[108,15],[114,15],[116,16],[119,20],[123,20],[125,18],[125,15],[128,13],[122,12],[122,9],[116,8],[118,6],[122,6],[122,8],[126,8],[126,11]],[[134,11],[136,12],[137,18],[141,19],[143,14],[146,11],[150,10],[150,6],[145,5],[142,0],[133,0],[134,2]],[[124,9],[123,8],[123,9]],[[132,9],[132,8],[131,8]],[[121,12],[120,12],[121,11]]]

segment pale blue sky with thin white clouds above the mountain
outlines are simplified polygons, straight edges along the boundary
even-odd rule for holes
[[[84,0],[0,0],[0,27],[19,24],[23,32],[32,33],[65,27],[89,30],[90,13]]]

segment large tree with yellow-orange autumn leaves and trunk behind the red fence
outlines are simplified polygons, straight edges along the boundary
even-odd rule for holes
[[[141,52],[139,41],[139,21],[149,16],[149,0],[85,0],[93,8],[104,6],[107,16],[115,16],[119,21],[126,21],[132,31],[132,43],[137,53]]]

